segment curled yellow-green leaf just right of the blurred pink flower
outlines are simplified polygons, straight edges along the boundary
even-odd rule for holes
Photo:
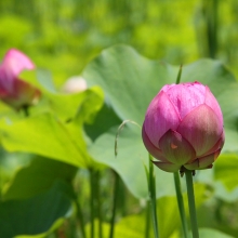
[[[22,75],[27,79],[26,81],[41,91],[41,98],[37,106],[29,108],[32,114],[50,111],[66,121],[71,120],[82,105],[89,106],[89,113],[96,111],[97,107],[102,107],[104,95],[98,87],[68,94],[60,90],[56,91],[51,72],[48,70],[38,69],[37,71],[25,71]]]

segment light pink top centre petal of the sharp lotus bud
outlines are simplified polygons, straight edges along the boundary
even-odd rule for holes
[[[204,103],[206,87],[199,82],[175,84],[169,88],[167,95],[183,120],[188,113]]]

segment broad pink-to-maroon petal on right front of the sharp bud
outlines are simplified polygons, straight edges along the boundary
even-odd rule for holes
[[[176,131],[191,144],[199,157],[220,140],[223,124],[209,106],[201,105],[183,119]]]

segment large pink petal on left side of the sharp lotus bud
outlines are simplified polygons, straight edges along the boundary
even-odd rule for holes
[[[160,137],[169,130],[175,130],[181,120],[167,94],[160,91],[146,111],[144,127],[150,142],[157,147]]]

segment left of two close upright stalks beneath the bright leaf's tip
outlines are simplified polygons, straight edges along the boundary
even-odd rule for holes
[[[91,188],[91,197],[90,197],[90,219],[91,219],[91,238],[94,238],[94,220],[95,220],[95,206],[94,206],[94,171],[90,169],[90,188]]]

